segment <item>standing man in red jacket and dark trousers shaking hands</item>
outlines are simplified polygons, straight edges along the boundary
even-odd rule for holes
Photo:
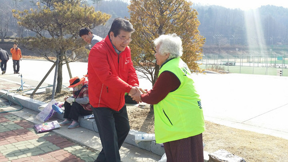
[[[136,94],[139,85],[128,46],[133,32],[129,21],[117,18],[89,53],[89,102],[103,147],[95,161],[120,161],[119,149],[130,131],[124,95]]]

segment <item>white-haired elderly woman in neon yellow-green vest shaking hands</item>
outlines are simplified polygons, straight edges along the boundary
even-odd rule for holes
[[[191,72],[180,58],[181,38],[176,34],[160,35],[154,44],[156,63],[160,66],[158,79],[151,91],[131,97],[154,104],[155,138],[157,143],[164,144],[168,162],[204,161],[203,110]]]

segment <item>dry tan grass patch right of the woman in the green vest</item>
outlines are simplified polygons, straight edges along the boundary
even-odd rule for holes
[[[224,149],[246,161],[288,161],[288,140],[206,121],[204,151]]]

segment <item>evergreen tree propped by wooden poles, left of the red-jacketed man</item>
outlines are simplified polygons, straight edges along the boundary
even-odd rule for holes
[[[37,6],[30,11],[13,10],[19,25],[37,33],[36,37],[20,38],[18,41],[28,49],[37,50],[48,61],[58,63],[56,93],[60,93],[62,65],[87,56],[85,42],[79,37],[80,28],[93,29],[103,25],[110,15],[95,12],[94,7],[81,5],[80,0],[40,0]],[[58,61],[51,60],[51,55]]]

